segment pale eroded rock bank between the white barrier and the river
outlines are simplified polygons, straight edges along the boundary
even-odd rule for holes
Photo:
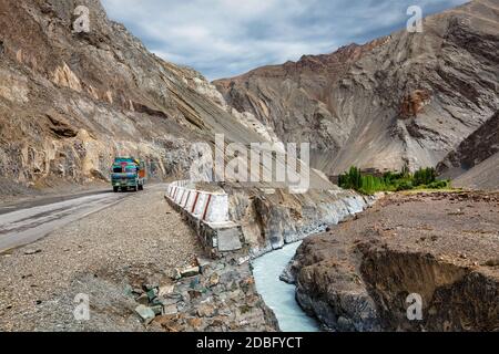
[[[245,244],[254,257],[325,231],[375,200],[338,187],[299,195],[283,189],[272,194],[257,188],[225,189],[230,192],[231,220],[242,226]]]

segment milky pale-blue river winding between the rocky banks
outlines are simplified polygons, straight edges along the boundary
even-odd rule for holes
[[[253,261],[256,289],[279,322],[283,332],[318,332],[319,324],[307,316],[295,299],[295,285],[279,280],[302,242],[288,244]]]

